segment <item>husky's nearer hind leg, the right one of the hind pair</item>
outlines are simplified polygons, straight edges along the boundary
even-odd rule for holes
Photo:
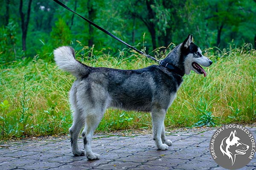
[[[91,141],[93,137],[94,130],[98,127],[99,122],[101,121],[103,114],[105,112],[100,109],[90,109],[89,114],[85,116],[85,126],[82,132],[82,137],[84,140],[84,150],[88,160],[99,159],[99,154],[93,153],[91,149]]]

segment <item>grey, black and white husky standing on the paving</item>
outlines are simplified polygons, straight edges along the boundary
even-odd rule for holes
[[[158,150],[166,150],[172,141],[166,139],[164,118],[183,82],[182,76],[191,71],[206,76],[200,65],[208,67],[212,64],[192,42],[192,35],[163,59],[182,74],[162,65],[137,70],[94,68],[76,60],[73,48],[67,46],[55,49],[54,59],[59,68],[77,78],[70,90],[73,110],[73,125],[69,130],[71,148],[75,156],[85,154],[88,160],[99,159],[99,154],[92,152],[91,141],[94,130],[109,107],[151,112],[153,139]],[[77,140],[82,127],[84,150],[79,150]]]

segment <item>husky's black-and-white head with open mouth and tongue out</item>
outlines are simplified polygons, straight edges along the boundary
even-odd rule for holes
[[[186,40],[177,45],[164,60],[177,66],[185,74],[195,71],[206,77],[206,72],[201,66],[208,67],[212,61],[202,54],[201,49],[192,42],[192,39],[192,35],[189,34]]]

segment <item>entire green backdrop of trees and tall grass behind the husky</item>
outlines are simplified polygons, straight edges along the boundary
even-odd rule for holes
[[[158,59],[193,34],[213,64],[207,77],[184,76],[166,129],[256,126],[256,0],[61,0],[102,28]],[[75,77],[52,51],[75,48],[92,67],[157,64],[131,51],[53,0],[0,0],[0,140],[63,135]],[[97,131],[150,129],[149,113],[108,109]]]

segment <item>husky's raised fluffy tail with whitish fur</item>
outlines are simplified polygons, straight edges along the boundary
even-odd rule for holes
[[[62,46],[53,51],[56,64],[64,71],[68,71],[76,78],[87,75],[90,67],[75,59],[75,51],[72,47]]]

